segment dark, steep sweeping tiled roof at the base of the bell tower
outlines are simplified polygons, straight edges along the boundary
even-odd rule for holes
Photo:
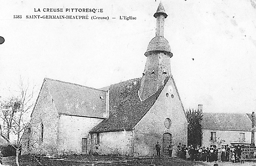
[[[169,78],[166,78],[156,93],[143,101],[138,96],[141,78],[110,85],[109,118],[104,119],[91,132],[132,129],[154,105]]]

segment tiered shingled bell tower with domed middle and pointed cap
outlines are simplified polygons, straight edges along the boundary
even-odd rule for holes
[[[156,13],[156,36],[149,42],[145,56],[147,57],[143,72],[139,95],[142,100],[154,94],[171,75],[171,48],[164,38],[164,19],[167,17],[164,6],[160,2]]]

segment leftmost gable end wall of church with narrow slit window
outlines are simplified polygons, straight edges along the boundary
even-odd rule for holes
[[[41,122],[44,125],[43,142],[40,141]],[[24,133],[23,145],[30,146],[23,149],[23,154],[57,155],[58,113],[52,100],[47,83],[43,84],[31,119],[31,132]]]

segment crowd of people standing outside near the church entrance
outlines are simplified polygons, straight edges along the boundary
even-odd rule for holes
[[[172,157],[173,149],[175,145],[170,144],[167,148],[169,151],[169,156]],[[157,156],[160,156],[161,145],[159,142],[156,144]],[[205,162],[226,162],[231,161],[244,163],[244,155],[241,152],[241,147],[237,146],[222,146],[221,148],[215,147],[200,147],[197,146],[186,146],[179,145],[176,147],[176,156],[178,158],[195,160],[195,161],[205,161]]]

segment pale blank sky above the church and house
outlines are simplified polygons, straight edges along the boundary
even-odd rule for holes
[[[142,77],[159,0],[0,1],[0,96],[18,95],[20,77],[94,88]],[[256,111],[256,0],[162,0],[171,72],[185,109]],[[40,9],[40,12],[35,12]],[[43,12],[44,8],[103,12]],[[15,15],[22,18],[15,19]],[[88,15],[89,19],[26,19]],[[108,20],[92,16],[109,17]],[[120,20],[120,16],[136,20]],[[113,19],[115,18],[115,19]],[[194,60],[192,60],[194,59]]]

